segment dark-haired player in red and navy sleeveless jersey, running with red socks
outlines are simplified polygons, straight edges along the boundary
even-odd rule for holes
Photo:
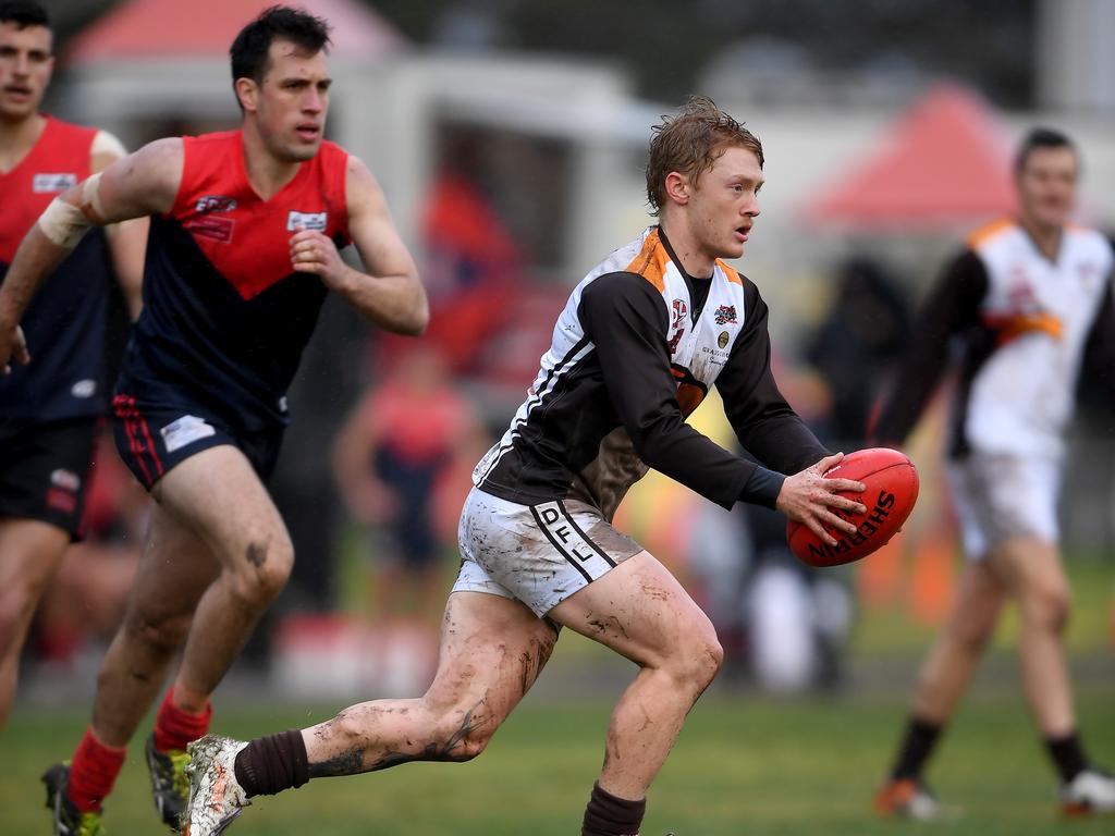
[[[163,820],[185,803],[186,742],[290,574],[293,547],[264,482],[285,392],[333,291],[381,328],[417,333],[426,298],[378,183],[323,140],[328,25],[271,7],[232,45],[241,128],[161,139],[66,191],[0,289],[0,364],[27,362],[17,325],[42,276],[90,224],[149,215],[144,311],[114,407],[117,449],[155,499],[125,621],[72,765],[43,776],[55,833],[96,834],[126,746],[182,663],[146,757]],[[339,247],[353,243],[367,273]]]

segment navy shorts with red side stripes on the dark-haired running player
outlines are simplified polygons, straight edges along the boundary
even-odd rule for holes
[[[175,465],[211,447],[232,445],[248,457],[264,483],[279,459],[282,428],[246,432],[200,405],[167,407],[117,393],[113,412],[113,437],[120,459],[148,490]]]

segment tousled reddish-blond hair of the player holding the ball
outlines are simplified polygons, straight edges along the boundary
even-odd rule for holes
[[[647,161],[647,201],[657,215],[666,204],[666,177],[679,172],[695,182],[729,147],[747,148],[763,167],[763,144],[707,96],[694,96],[677,116],[663,116],[651,128]]]

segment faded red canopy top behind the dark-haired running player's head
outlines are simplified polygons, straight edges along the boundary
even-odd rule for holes
[[[127,0],[70,43],[71,64],[136,58],[227,56],[236,32],[274,0]],[[404,43],[369,7],[355,0],[302,0],[299,7],[332,25],[332,54],[371,57]]]

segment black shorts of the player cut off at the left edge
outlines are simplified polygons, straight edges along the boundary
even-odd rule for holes
[[[39,519],[78,539],[98,416],[42,424],[0,421],[0,517]]]

